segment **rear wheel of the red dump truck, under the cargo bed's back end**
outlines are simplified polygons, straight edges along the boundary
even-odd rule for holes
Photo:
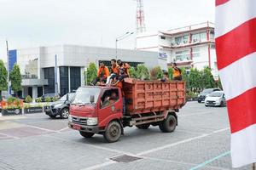
[[[177,126],[177,119],[173,115],[168,115],[166,119],[159,124],[159,128],[163,133],[172,133]]]

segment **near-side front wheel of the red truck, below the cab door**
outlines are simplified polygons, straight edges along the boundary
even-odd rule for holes
[[[106,139],[109,143],[113,143],[119,140],[122,133],[122,127],[119,122],[113,121],[108,124],[108,127],[103,133],[104,139]]]

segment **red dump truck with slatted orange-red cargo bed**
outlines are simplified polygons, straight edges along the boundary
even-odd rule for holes
[[[184,82],[125,78],[123,92],[116,87],[80,87],[70,104],[68,126],[84,138],[98,133],[108,142],[118,141],[124,127],[152,125],[171,133],[177,126],[176,112],[184,104]]]

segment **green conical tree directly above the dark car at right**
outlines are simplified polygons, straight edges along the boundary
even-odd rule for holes
[[[204,68],[201,78],[203,88],[215,88],[216,84],[212,76],[212,71],[209,67]]]

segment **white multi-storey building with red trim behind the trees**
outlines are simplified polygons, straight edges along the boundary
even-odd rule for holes
[[[159,58],[166,59],[169,66],[172,62],[188,70],[209,66],[213,77],[218,79],[214,24],[211,22],[140,34],[137,50],[158,52]]]

